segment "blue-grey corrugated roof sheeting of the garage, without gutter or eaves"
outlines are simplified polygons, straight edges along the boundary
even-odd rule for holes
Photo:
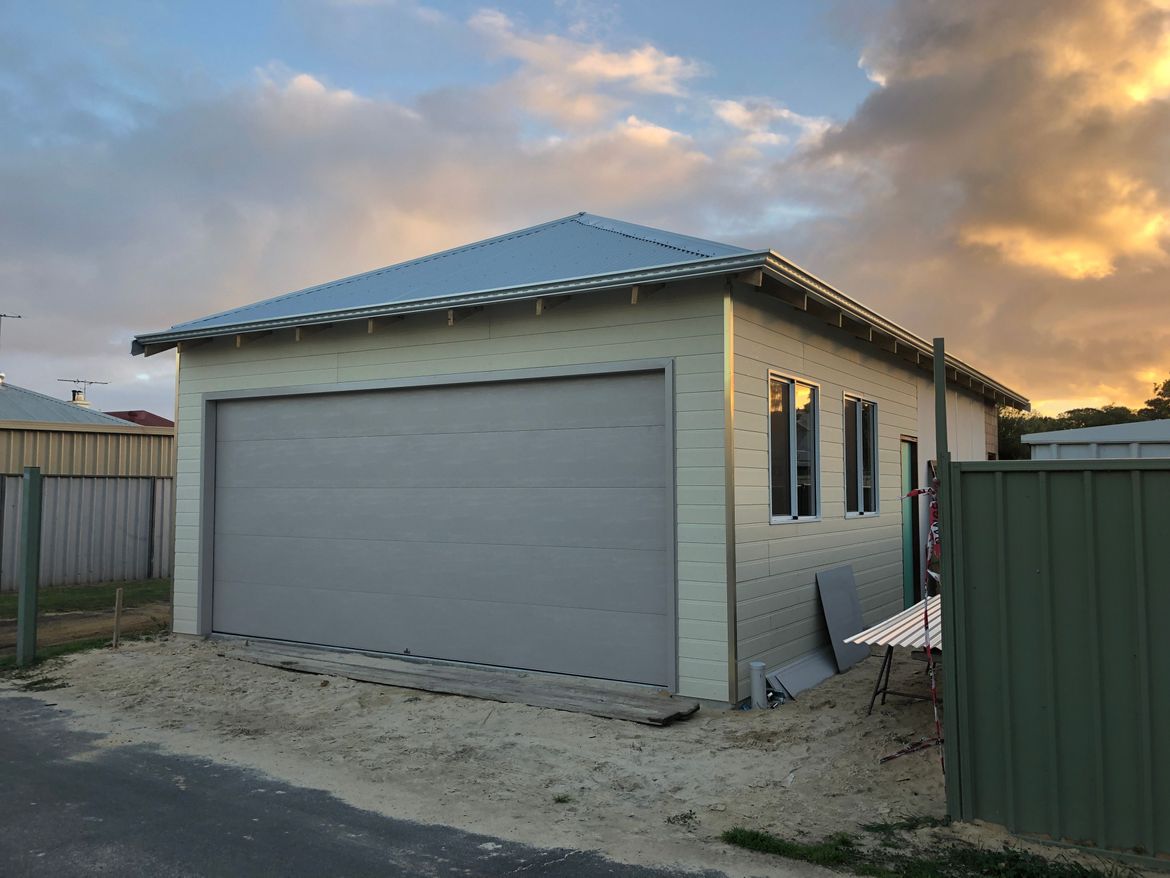
[[[213,329],[300,315],[457,299],[470,293],[751,253],[717,241],[577,213],[408,262],[178,323]]]

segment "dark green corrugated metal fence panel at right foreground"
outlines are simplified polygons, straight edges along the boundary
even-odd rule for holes
[[[1170,460],[949,481],[952,814],[1170,856]]]

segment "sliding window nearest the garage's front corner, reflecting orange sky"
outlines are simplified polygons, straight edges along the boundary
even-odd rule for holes
[[[815,385],[769,373],[769,506],[773,523],[820,515],[819,402]]]

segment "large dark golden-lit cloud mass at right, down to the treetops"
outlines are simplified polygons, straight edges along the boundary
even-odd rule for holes
[[[1170,6],[899,0],[879,87],[776,169],[844,289],[1038,399],[1134,403],[1170,372]],[[798,183],[796,183],[798,181]]]

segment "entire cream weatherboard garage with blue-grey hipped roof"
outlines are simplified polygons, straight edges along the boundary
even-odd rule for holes
[[[930,345],[770,251],[590,214],[135,341],[179,350],[174,630],[745,694],[903,604]],[[951,448],[1027,400],[948,359]]]

